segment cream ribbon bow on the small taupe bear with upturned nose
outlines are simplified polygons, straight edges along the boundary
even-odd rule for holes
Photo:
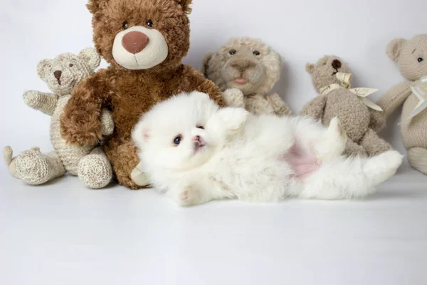
[[[324,88],[320,88],[320,95],[327,95],[327,93],[330,93],[334,89],[347,89],[354,95],[357,95],[357,98],[364,103],[364,105],[367,105],[369,108],[377,110],[379,112],[382,112],[382,108],[379,107],[379,105],[376,105],[374,102],[369,100],[367,97],[371,94],[374,94],[378,89],[374,88],[350,88],[350,79],[352,79],[351,73],[337,73],[338,80],[342,83],[342,85],[339,84],[330,84],[328,86],[325,86]]]

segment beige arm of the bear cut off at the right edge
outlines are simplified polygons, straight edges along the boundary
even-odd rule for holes
[[[405,103],[412,93],[411,83],[411,81],[404,81],[391,88],[379,99],[377,105],[384,110],[384,118],[389,118],[389,115]]]

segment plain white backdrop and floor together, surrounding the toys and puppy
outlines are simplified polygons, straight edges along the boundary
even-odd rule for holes
[[[295,111],[315,96],[307,61],[351,63],[354,86],[402,81],[385,55],[396,37],[426,33],[423,0],[195,0],[191,52],[231,36],[261,37],[283,54],[276,89]],[[51,150],[48,116],[24,90],[47,90],[43,58],[90,46],[85,0],[1,0],[0,147]],[[400,150],[399,119],[384,136]],[[179,209],[152,191],[85,190],[74,177],[29,187],[0,167],[0,284],[425,284],[427,177],[402,168],[367,201]]]

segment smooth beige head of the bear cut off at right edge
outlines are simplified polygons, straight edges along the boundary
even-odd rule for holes
[[[427,76],[427,34],[410,40],[394,39],[387,46],[387,56],[398,63],[402,76],[409,81]]]

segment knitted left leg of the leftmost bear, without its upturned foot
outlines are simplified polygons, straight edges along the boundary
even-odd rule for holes
[[[26,150],[16,157],[16,175],[29,185],[42,185],[65,175],[65,167],[56,152],[48,154],[38,149]]]

